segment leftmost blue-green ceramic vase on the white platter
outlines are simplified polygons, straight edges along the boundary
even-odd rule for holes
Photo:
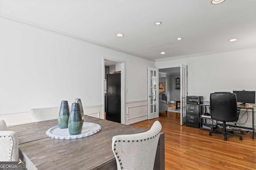
[[[58,125],[60,129],[68,128],[68,119],[69,119],[68,101],[63,100],[60,104],[60,111],[58,116]]]

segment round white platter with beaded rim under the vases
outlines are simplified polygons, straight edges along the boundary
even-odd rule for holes
[[[101,126],[98,125],[97,123],[84,122],[82,132],[79,135],[70,135],[68,133],[68,128],[60,129],[59,126],[54,126],[48,129],[46,131],[46,135],[54,139],[77,139],[77,138],[91,136],[97,133],[98,131],[100,131],[100,129],[101,129]]]

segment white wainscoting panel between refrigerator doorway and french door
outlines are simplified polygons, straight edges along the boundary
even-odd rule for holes
[[[148,119],[148,100],[126,102],[126,125]]]

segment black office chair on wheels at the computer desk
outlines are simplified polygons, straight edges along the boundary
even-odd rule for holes
[[[242,136],[226,131],[226,122],[238,121],[239,110],[237,109],[236,94],[231,92],[211,93],[210,113],[212,119],[223,122],[223,130],[212,129],[212,131],[209,132],[210,136],[212,136],[212,133],[218,133],[224,135],[225,141],[227,140],[226,135],[240,137],[240,140],[243,140]]]

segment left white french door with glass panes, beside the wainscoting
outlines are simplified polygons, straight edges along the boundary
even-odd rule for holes
[[[158,68],[148,68],[148,119],[159,117]]]

